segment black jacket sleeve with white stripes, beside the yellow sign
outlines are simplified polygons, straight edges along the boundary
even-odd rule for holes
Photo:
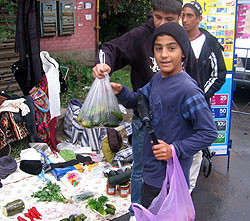
[[[211,60],[211,77],[204,85],[205,97],[209,100],[225,83],[226,78],[226,65],[222,54],[221,46],[216,44],[216,50],[214,50],[209,59]]]

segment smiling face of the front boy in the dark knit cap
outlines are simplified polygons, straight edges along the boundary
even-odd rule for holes
[[[169,36],[158,36],[154,42],[154,56],[162,77],[170,77],[181,71],[184,55],[177,41]]]

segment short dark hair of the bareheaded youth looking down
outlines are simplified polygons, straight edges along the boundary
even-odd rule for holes
[[[182,0],[152,0],[153,11],[162,11],[166,14],[180,16],[182,11]]]

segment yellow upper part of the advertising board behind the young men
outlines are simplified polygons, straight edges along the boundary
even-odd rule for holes
[[[183,5],[189,1],[183,2]],[[236,0],[197,0],[203,13],[200,27],[214,35],[224,47],[227,71],[233,70]]]

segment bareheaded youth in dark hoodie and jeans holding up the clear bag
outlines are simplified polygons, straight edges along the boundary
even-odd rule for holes
[[[182,3],[177,0],[152,0],[152,14],[148,16],[145,25],[132,29],[123,36],[105,42],[101,49],[105,53],[105,64],[100,64],[97,55],[93,76],[103,78],[104,73],[111,74],[127,65],[131,66],[131,83],[133,91],[147,84],[153,75],[159,71],[155,61],[151,40],[155,28],[167,22],[179,22]],[[184,64],[185,70],[199,82],[197,61],[192,50],[188,51]],[[140,203],[142,188],[142,145],[145,137],[145,127],[142,125],[135,110],[132,122],[133,167],[131,176],[131,201]],[[130,207],[133,219],[133,211]]]

